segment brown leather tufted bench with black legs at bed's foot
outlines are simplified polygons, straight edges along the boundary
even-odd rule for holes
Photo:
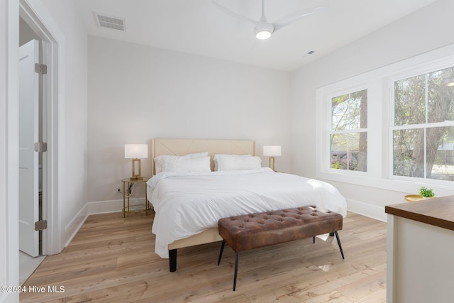
[[[236,289],[238,274],[238,257],[240,251],[272,246],[289,241],[301,240],[323,233],[334,233],[343,251],[338,231],[342,229],[342,216],[319,206],[305,206],[297,209],[282,209],[258,214],[231,216],[218,222],[219,235],[223,238],[219,253],[218,265],[225,244],[236,253],[233,290]]]

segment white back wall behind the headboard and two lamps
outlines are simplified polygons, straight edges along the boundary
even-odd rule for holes
[[[258,155],[282,145],[276,168],[290,170],[288,72],[95,36],[88,62],[90,202],[122,199],[124,144],[153,138],[252,139]]]

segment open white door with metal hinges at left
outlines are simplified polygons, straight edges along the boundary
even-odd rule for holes
[[[37,257],[39,232],[38,153],[39,136],[39,42],[31,40],[19,48],[19,249]]]

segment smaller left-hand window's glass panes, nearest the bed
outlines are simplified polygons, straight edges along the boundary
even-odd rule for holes
[[[367,172],[367,89],[331,98],[333,170]]]

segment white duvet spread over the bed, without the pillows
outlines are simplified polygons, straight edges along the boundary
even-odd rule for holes
[[[316,205],[345,217],[345,198],[331,184],[260,170],[160,172],[147,182],[155,209],[155,252],[169,258],[168,245],[218,226],[227,216]]]

